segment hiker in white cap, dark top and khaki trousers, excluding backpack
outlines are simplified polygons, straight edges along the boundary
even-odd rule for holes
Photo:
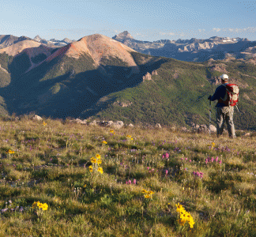
[[[229,137],[234,138],[235,137],[235,126],[233,122],[233,114],[234,114],[234,106],[231,106],[231,104],[226,103],[224,101],[224,98],[227,98],[226,96],[226,86],[228,85],[228,75],[222,74],[220,76],[221,79],[221,85],[216,88],[216,91],[214,92],[213,96],[209,96],[208,100],[214,101],[218,100],[218,103],[216,103],[216,135],[219,137],[224,130],[224,121],[226,121],[228,126],[228,134]]]

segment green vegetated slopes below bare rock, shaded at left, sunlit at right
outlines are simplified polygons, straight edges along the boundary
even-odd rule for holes
[[[209,102],[206,98],[213,94],[215,87],[208,79],[220,76],[221,72],[212,71],[207,62],[199,64],[139,53],[132,55],[141,73],[129,79],[126,75],[130,74],[130,68],[119,58],[103,58],[102,67],[96,69],[88,55],[79,59],[60,57],[22,74],[29,66],[25,55],[14,60],[1,55],[3,67],[12,75],[12,83],[2,95],[8,101],[19,99],[16,100],[19,103],[14,104],[16,110],[12,110],[18,114],[36,111],[40,115],[58,118],[91,116],[124,122],[160,122],[161,125],[175,123],[185,126],[191,121],[209,123]],[[241,88],[241,113],[236,112],[235,126],[237,129],[255,129],[255,66],[239,61],[224,63],[231,78],[248,85]],[[18,72],[14,72],[17,65]],[[152,70],[158,72],[157,76],[152,76],[153,81],[141,83],[145,73]],[[2,77],[2,82],[7,79]],[[88,88],[95,93],[88,91]],[[92,107],[92,103],[106,95],[111,102],[104,103],[104,107]],[[20,107],[21,101],[24,107]],[[120,107],[115,103],[117,101],[132,104]],[[7,109],[10,107],[13,103],[7,103]],[[212,119],[215,119],[214,110]]]

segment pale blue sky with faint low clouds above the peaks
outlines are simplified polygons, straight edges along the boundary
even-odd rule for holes
[[[128,31],[136,40],[256,40],[256,1],[0,0],[0,35],[79,40]]]

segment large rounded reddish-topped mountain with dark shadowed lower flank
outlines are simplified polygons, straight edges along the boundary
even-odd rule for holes
[[[5,64],[11,79],[0,90],[10,114],[36,111],[51,117],[77,117],[100,97],[137,85],[145,73],[134,61],[134,50],[101,35],[59,48],[34,66],[29,51],[16,57],[2,54],[3,62],[12,58]],[[161,60],[150,58],[152,63]]]

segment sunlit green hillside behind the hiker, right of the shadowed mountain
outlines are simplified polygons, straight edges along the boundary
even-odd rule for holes
[[[112,103],[92,118],[121,119],[124,122],[147,122],[149,124],[160,122],[163,125],[175,122],[184,126],[191,120],[208,124],[209,101],[207,97],[209,94],[213,95],[216,88],[208,78],[220,76],[222,73],[211,71],[206,63],[180,62],[175,59],[166,59],[166,61],[157,70],[158,75],[152,76],[153,81],[145,81],[134,88],[126,88],[121,92],[108,95],[109,100],[114,99]],[[255,97],[253,89],[256,88],[255,66],[239,62],[225,62],[225,64],[231,78],[249,85],[247,88],[240,88],[240,114],[235,111],[236,128],[255,129],[254,104],[243,98],[244,93],[247,93],[251,99]],[[150,71],[150,66],[148,69]],[[243,76],[239,72],[247,73],[250,77]],[[178,78],[174,77],[175,73],[179,74]],[[130,107],[120,107],[115,101],[133,104]],[[212,119],[215,120],[214,110]],[[248,119],[251,121],[250,124],[247,122]]]

